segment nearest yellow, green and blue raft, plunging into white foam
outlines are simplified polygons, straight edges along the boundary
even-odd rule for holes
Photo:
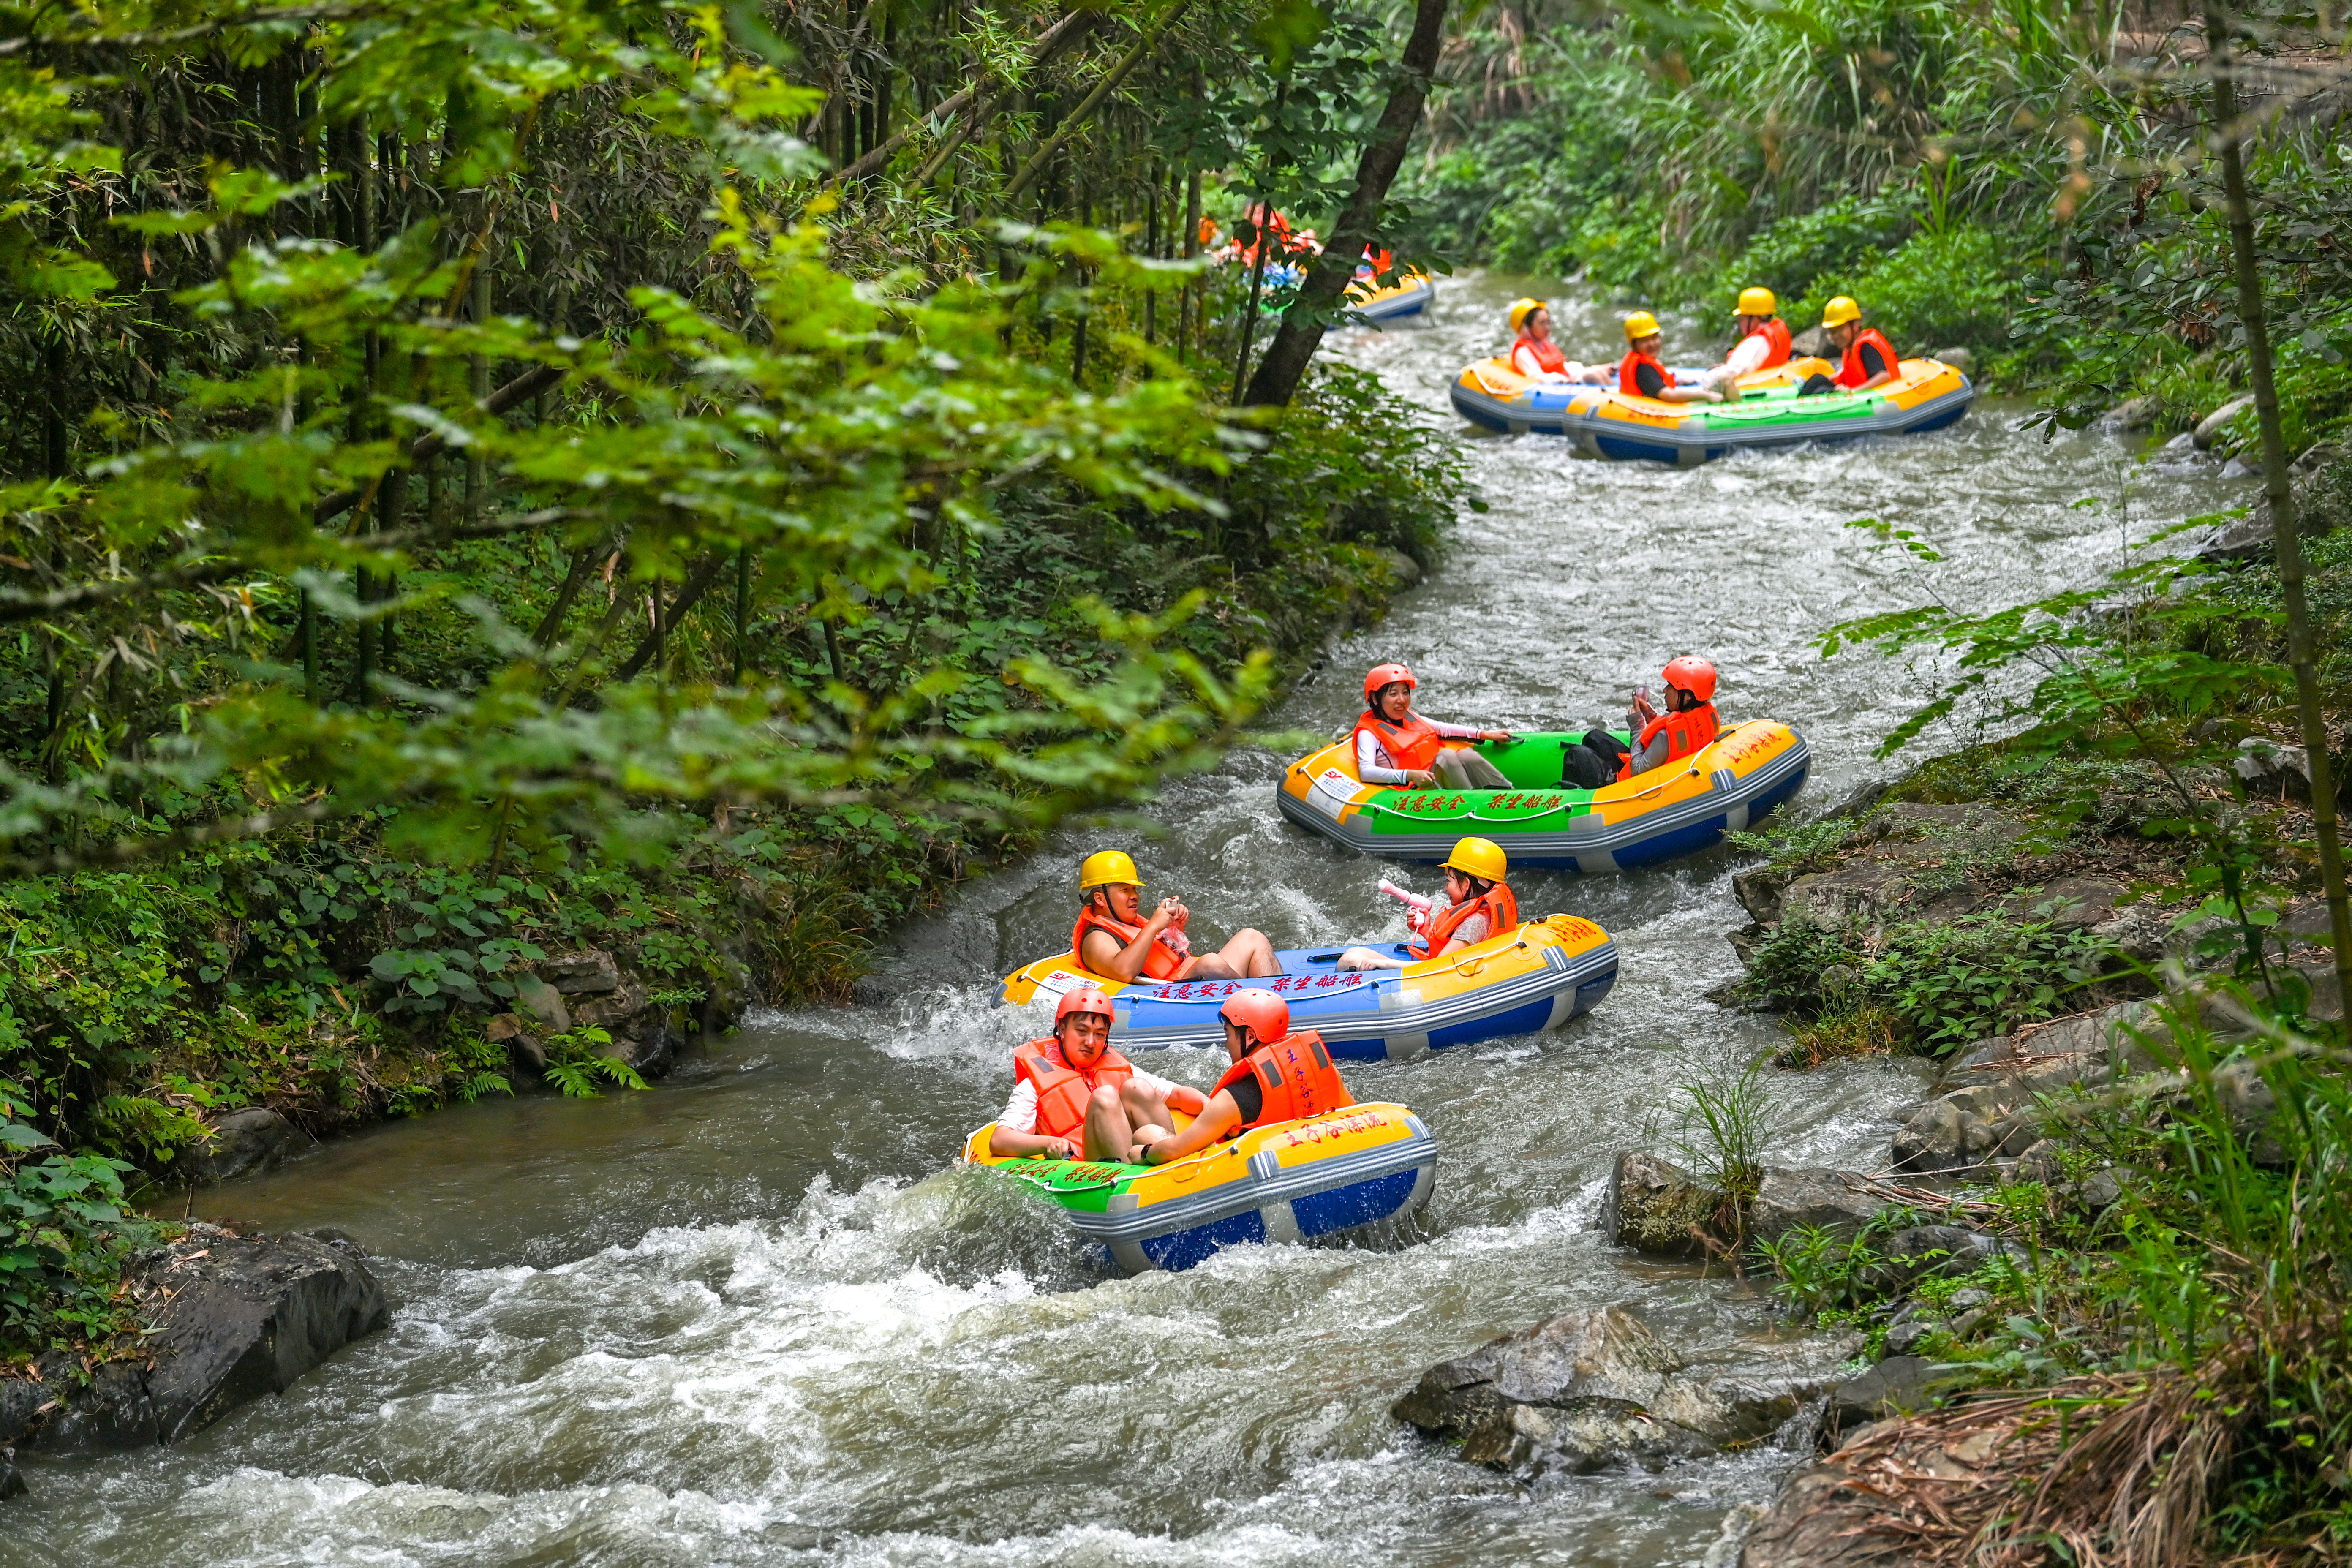
[[[1171,1166],[997,1159],[995,1131],[990,1121],[967,1138],[964,1159],[1058,1204],[1129,1274],[1190,1269],[1251,1241],[1376,1239],[1428,1206],[1437,1175],[1437,1140],[1402,1105],[1251,1128]]]

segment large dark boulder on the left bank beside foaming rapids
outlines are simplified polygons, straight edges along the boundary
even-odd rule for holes
[[[146,1359],[108,1361],[71,1394],[71,1380],[52,1375],[64,1408],[35,1413],[28,1450],[176,1443],[249,1399],[282,1394],[390,1316],[358,1248],[212,1225],[141,1260],[132,1288],[160,1302]]]

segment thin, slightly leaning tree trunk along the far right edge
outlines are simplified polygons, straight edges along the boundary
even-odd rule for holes
[[[2263,270],[2253,252],[2253,202],[2246,195],[2246,158],[2237,127],[2237,82],[2230,80],[2234,42],[2230,12],[2206,7],[2206,61],[2213,71],[2213,141],[2220,150],[2223,197],[2230,205],[2230,252],[2237,259],[2237,315],[2246,327],[2246,362],[2253,374],[2253,418],[2263,433],[2263,494],[2279,552],[2279,595],[2286,599],[2286,665],[2296,672],[2296,708],[2303,710],[2303,750],[2312,769],[2312,830],[2319,839],[2319,882],[2336,933],[2338,994],[2352,999],[2352,905],[2345,900],[2345,860],[2336,837],[2336,757],[2328,752],[2328,719],[2319,705],[2319,649],[2312,609],[2303,592],[2303,538],[2296,534],[2296,487],[2286,473],[2286,437],[2279,430],[2279,386],[2270,364],[2270,322],[2263,315]]]

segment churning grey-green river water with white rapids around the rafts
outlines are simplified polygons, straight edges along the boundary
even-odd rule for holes
[[[1461,428],[1444,386],[1503,341],[1522,287],[1446,280],[1435,324],[1341,353]],[[1698,324],[1675,327],[1668,360],[1693,362]],[[1618,350],[1616,315],[1590,306],[1562,306],[1557,336]],[[1362,670],[1402,658],[1437,717],[1583,724],[1700,651],[1726,717],[1806,731],[1799,809],[1820,809],[1891,766],[1872,745],[1919,693],[1900,665],[1825,663],[1828,623],[1926,588],[2034,597],[2114,564],[2126,534],[2249,498],[2209,461],[2140,463],[2124,437],[2044,444],[2013,428],[2023,411],[1698,470],[1463,433],[1491,510],[1272,719],[1329,733]],[[1853,517],[1947,559],[1905,574]],[[1112,1279],[1014,1182],[948,1166],[1002,1103],[1009,1046],[1040,1032],[990,1006],[995,978],[1068,940],[1087,849],[1131,844],[1195,933],[1402,933],[1374,882],[1428,891],[1430,867],[1287,827],[1279,769],[1244,752],[1171,785],[1145,809],[1155,837],[1061,835],[906,931],[875,1001],[757,1013],[652,1093],[449,1110],[207,1192],[198,1213],[360,1237],[393,1326],[179,1448],[33,1465],[0,1563],[1698,1563],[1795,1455],[1524,1486],[1388,1406],[1430,1361],[1604,1302],[1700,1359],[1825,1354],[1757,1286],[1595,1234],[1616,1152],[1672,1138],[1672,1086],[1778,1039],[1705,999],[1736,976],[1724,933],[1745,922],[1729,851],[1515,877],[1531,917],[1616,933],[1616,992],[1557,1034],[1350,1065],[1359,1098],[1404,1100],[1439,1138],[1416,1246],[1237,1248]],[[1221,1060],[1148,1065],[1207,1084]],[[1773,1074],[1771,1154],[1877,1168],[1917,1091],[1896,1063]]]

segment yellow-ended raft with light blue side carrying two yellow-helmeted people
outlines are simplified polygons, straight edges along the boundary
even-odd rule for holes
[[[1263,980],[1122,985],[1087,973],[1075,954],[1061,952],[1009,973],[1004,1001],[1021,1006],[1080,985],[1101,987],[1110,997],[1110,1044],[1134,1053],[1223,1046],[1218,1004],[1256,985],[1291,1004],[1294,1030],[1317,1030],[1331,1056],[1364,1063],[1414,1060],[1479,1039],[1557,1030],[1599,1006],[1616,985],[1616,945],[1606,931],[1573,914],[1526,922],[1444,959],[1341,973],[1338,954],[1355,945],[1406,957],[1397,943],[1334,943],[1277,952],[1282,973]]]

